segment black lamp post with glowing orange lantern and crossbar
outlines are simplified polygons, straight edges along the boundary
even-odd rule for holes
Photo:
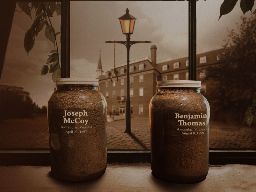
[[[126,99],[126,126],[124,133],[131,133],[131,103],[130,103],[130,47],[136,43],[151,43],[151,41],[130,41],[130,36],[133,33],[136,18],[129,14],[128,8],[126,13],[119,17],[122,32],[126,35],[126,41],[106,41],[105,43],[120,43],[124,44],[127,49],[127,99]]]

